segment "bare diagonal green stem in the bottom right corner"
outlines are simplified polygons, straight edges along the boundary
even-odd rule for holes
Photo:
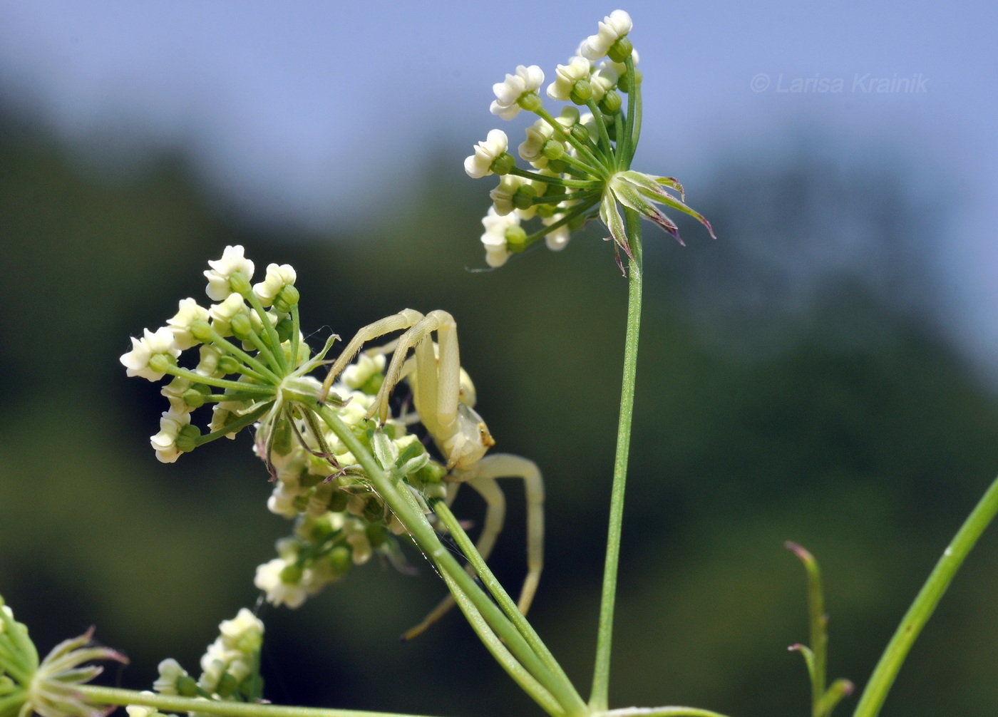
[[[943,550],[942,557],[936,562],[915,601],[901,619],[901,624],[897,626],[894,636],[887,643],[887,648],[859,698],[856,711],[852,713],[853,717],[875,717],[880,712],[880,707],[911,645],[932,616],[933,610],[939,604],[949,583],[953,581],[967,553],[977,542],[977,538],[984,533],[984,529],[988,527],[996,513],[998,513],[998,479],[991,484],[956,536]]]

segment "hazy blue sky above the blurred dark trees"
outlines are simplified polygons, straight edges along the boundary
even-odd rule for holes
[[[0,88],[91,161],[180,146],[250,216],[354,225],[364,197],[411,180],[426,154],[466,154],[502,124],[492,83],[521,63],[552,77],[615,7],[0,0]],[[645,76],[643,154],[668,163],[637,169],[680,177],[695,199],[724,157],[791,133],[904,156],[926,195],[956,202],[938,237],[954,332],[998,366],[996,6],[623,7]],[[807,91],[788,92],[795,81]]]

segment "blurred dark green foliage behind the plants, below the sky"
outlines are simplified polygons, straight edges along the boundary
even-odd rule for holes
[[[162,325],[180,298],[203,300],[207,260],[243,243],[258,267],[298,269],[306,333],[346,338],[406,306],[455,315],[497,450],[544,471],[547,566],[531,616],[588,688],[626,292],[598,227],[560,254],[542,249],[476,273],[466,268],[484,265],[485,186],[446,153],[424,168],[431,179],[418,191],[374,207],[369,229],[349,235],[247,225],[208,198],[180,157],[117,176],[73,158],[34,123],[0,118],[0,592],[40,647],[96,623],[101,640],[132,658],[111,681],[148,688],[164,657],[197,669],[218,622],[256,600],[254,566],[287,526],[264,508],[269,486],[249,437],[158,464],[148,437],[166,402],[158,387],[126,380],[118,363],[129,335]],[[870,231],[880,237],[903,233],[916,216],[900,179],[857,187],[857,196],[890,191],[863,213],[843,201],[844,184],[827,168],[798,160],[753,185],[766,205],[724,187],[697,192],[717,242],[688,227],[681,248],[646,231],[651,300],[615,705],[805,714],[804,667],[785,649],[806,638],[803,573],[781,547],[788,538],[824,569],[830,674],[861,687],[998,470],[993,397],[917,312],[857,278],[859,267],[825,277],[792,312],[756,305],[740,314],[733,277],[762,282],[764,293],[746,247],[780,232],[786,205],[795,208],[783,230],[794,236],[832,210],[867,223],[875,214]],[[880,171],[892,177],[890,167]],[[732,253],[743,265],[710,259],[726,245],[739,247]],[[888,258],[895,268],[911,259]],[[701,310],[725,295],[735,299],[727,314]],[[726,326],[739,342],[726,345]],[[507,494],[511,515],[493,561],[516,589],[520,487]],[[457,508],[481,515],[470,492]],[[395,641],[443,593],[411,557],[418,577],[367,565],[296,611],[264,607],[268,697],[535,714],[456,614],[412,643]],[[988,535],[916,645],[885,717],[994,713],[996,567],[998,539]]]

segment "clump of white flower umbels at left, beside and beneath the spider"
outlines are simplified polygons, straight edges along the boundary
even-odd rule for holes
[[[297,607],[374,555],[408,570],[396,539],[405,528],[344,443],[309,418],[307,406],[317,401],[321,385],[308,374],[324,363],[337,337],[312,355],[299,328],[294,268],[270,264],[263,280],[250,284],[254,266],[242,246],[227,246],[209,266],[206,293],[218,303],[206,308],[183,299],[166,326],[145,329],[121,357],[129,376],[153,382],[172,377],[161,392],[169,410],[150,439],[156,457],[174,463],[205,443],[254,427],[253,451],[273,481],[267,509],[294,521],[291,535],[277,540],[277,557],[256,569],[254,582],[273,604]],[[190,368],[181,365],[185,354],[195,355],[186,361]],[[393,457],[392,470],[419,496],[442,498],[446,470],[408,433],[406,422],[389,417],[379,426],[367,418],[384,368],[384,356],[361,354],[324,403],[361,444],[380,448],[372,451],[376,457]],[[193,418],[209,411],[205,433]]]

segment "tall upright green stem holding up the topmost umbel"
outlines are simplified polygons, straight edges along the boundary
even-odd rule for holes
[[[627,460],[631,447],[631,419],[634,414],[635,377],[638,369],[638,334],[641,329],[642,266],[641,216],[625,208],[627,234],[634,261],[629,265],[627,335],[624,339],[624,381],[621,387],[621,413],[617,425],[617,458],[614,461],[614,483],[610,495],[610,530],[607,537],[607,559],[603,571],[603,595],[600,602],[600,627],[596,641],[596,668],[593,672],[593,692],[589,706],[606,710],[610,692],[610,648],[614,631],[614,602],[617,594],[617,566],[620,562],[621,527],[624,521],[624,487],[627,481]]]

